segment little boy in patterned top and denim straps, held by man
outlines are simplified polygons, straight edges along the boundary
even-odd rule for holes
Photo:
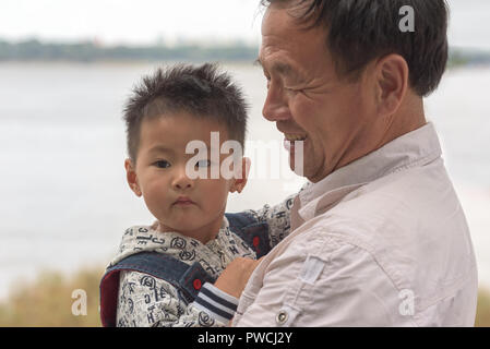
[[[243,149],[242,94],[213,64],[159,69],[124,120],[128,183],[156,220],[126,230],[100,284],[103,325],[225,326],[237,300],[214,280],[236,257],[268,252],[289,230],[292,202],[225,216],[228,193],[247,183],[241,152],[231,163],[219,152],[229,141]]]

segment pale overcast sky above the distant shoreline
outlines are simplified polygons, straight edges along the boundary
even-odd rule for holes
[[[490,49],[490,0],[447,0],[450,43]],[[260,43],[259,0],[0,0],[0,38]]]

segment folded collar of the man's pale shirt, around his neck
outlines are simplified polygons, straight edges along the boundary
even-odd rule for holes
[[[434,125],[426,123],[304,188],[295,200],[299,217],[295,214],[294,220],[309,220],[319,209],[326,210],[366,183],[402,169],[423,166],[440,156]]]

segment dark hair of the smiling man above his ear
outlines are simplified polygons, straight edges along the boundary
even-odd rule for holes
[[[261,4],[291,0],[261,0]],[[359,76],[375,58],[402,56],[409,83],[419,96],[433,92],[447,62],[447,15],[444,0],[300,0],[300,14],[291,14],[307,29],[324,27],[326,47],[340,76]],[[404,5],[414,9],[415,31],[402,32]],[[295,11],[296,13],[296,11]]]

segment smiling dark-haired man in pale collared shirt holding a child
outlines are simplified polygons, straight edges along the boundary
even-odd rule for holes
[[[216,281],[241,296],[234,325],[473,326],[473,244],[422,101],[447,59],[444,1],[264,4],[263,115],[303,141],[311,185],[290,234]]]

